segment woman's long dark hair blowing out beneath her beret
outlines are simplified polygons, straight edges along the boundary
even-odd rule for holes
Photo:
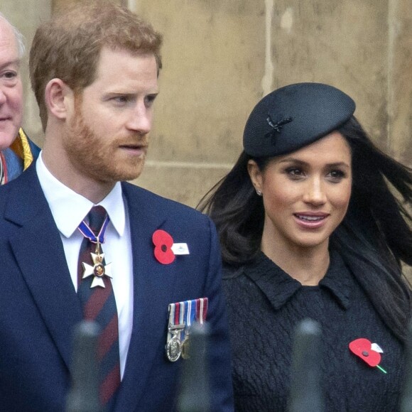
[[[411,313],[402,264],[412,266],[412,169],[379,150],[354,116],[337,131],[352,151],[352,196],[345,219],[330,237],[381,318],[401,340]],[[226,264],[242,266],[260,251],[264,206],[242,152],[232,170],[198,209],[216,224]],[[264,170],[271,158],[253,158]]]

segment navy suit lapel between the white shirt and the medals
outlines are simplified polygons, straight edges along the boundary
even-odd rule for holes
[[[167,318],[156,313],[168,308],[175,283],[168,265],[154,260],[151,237],[165,222],[161,211],[153,210],[144,193],[131,197],[123,186],[129,207],[134,264],[134,318],[124,379],[116,402],[116,411],[134,411],[143,395],[155,357],[164,356]],[[173,272],[174,273],[174,272]],[[157,319],[157,320],[156,320]],[[157,323],[156,323],[157,322]]]

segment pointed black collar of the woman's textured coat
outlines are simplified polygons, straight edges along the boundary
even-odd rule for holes
[[[274,264],[263,252],[252,264],[245,266],[244,272],[256,283],[276,310],[288,302],[300,288],[305,287]],[[327,288],[342,308],[347,309],[352,285],[353,279],[349,269],[340,255],[332,251],[329,269],[320,281],[319,287]]]

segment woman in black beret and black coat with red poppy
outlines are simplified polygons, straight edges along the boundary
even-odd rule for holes
[[[222,246],[237,411],[286,410],[304,318],[322,329],[327,411],[399,409],[412,170],[374,146],[354,109],[328,85],[271,92],[200,203]]]

